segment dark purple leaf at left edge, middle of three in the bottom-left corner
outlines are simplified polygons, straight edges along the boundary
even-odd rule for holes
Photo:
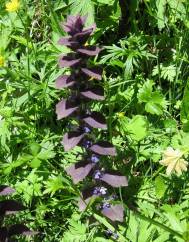
[[[14,200],[5,200],[0,202],[0,216],[14,214],[24,210],[25,207]]]

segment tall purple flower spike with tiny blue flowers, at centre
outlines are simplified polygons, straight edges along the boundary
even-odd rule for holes
[[[69,88],[71,98],[62,99],[56,105],[58,119],[72,115],[77,119],[77,129],[69,127],[71,132],[64,135],[62,145],[65,151],[69,151],[75,146],[81,146],[85,160],[76,162],[66,169],[68,175],[72,177],[73,183],[77,184],[86,177],[92,179],[93,187],[82,192],[78,207],[80,211],[86,209],[93,199],[98,202],[102,198],[106,203],[100,209],[102,214],[112,221],[123,221],[123,206],[112,205],[113,196],[103,184],[108,184],[108,188],[127,186],[127,178],[115,172],[106,172],[102,167],[101,156],[116,156],[115,147],[108,141],[99,141],[98,129],[107,129],[106,118],[101,112],[91,110],[90,104],[102,101],[104,97],[103,85],[100,83],[103,70],[99,66],[94,66],[90,57],[99,54],[101,49],[97,46],[88,45],[90,36],[96,25],[85,28],[86,16],[69,16],[63,28],[69,36],[62,37],[58,41],[60,45],[70,48],[70,53],[60,57],[60,68],[68,67],[71,75],[61,75],[56,80],[56,88]],[[86,44],[86,42],[88,42]],[[94,81],[92,81],[94,79]],[[92,106],[94,107],[94,106]],[[95,108],[95,107],[94,107]],[[97,129],[94,131],[93,129]],[[103,134],[101,135],[101,137]],[[96,143],[95,143],[96,142]],[[108,157],[109,158],[109,157]],[[89,182],[89,179],[87,180]],[[100,198],[101,197],[101,198]],[[92,200],[91,200],[92,199]],[[112,232],[112,237],[114,233]]]

